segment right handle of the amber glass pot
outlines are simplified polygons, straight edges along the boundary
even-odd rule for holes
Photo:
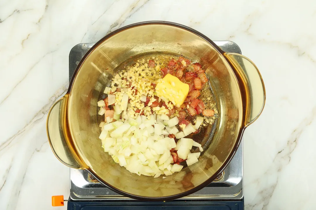
[[[254,122],[261,114],[265,103],[265,88],[257,66],[247,57],[237,53],[224,53],[226,59],[234,66],[245,85],[246,123]]]

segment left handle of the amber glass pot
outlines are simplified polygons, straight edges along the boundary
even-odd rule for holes
[[[76,161],[67,145],[68,138],[65,131],[66,123],[66,105],[68,96],[59,99],[48,112],[46,129],[49,144],[58,160],[68,167],[82,169],[82,166]]]

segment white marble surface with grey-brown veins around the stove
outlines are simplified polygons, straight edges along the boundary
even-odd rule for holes
[[[315,209],[313,0],[0,0],[0,209],[66,209],[51,207],[69,196],[69,168],[46,116],[68,87],[70,49],[145,20],[234,41],[258,66],[267,100],[244,134],[245,208]]]

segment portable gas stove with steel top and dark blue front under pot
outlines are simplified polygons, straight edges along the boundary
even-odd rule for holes
[[[239,46],[230,41],[214,42],[225,52],[240,53]],[[81,43],[69,54],[69,80],[79,61],[94,43]],[[87,171],[70,168],[70,197],[68,209],[244,209],[242,141],[224,172],[203,189],[173,201],[146,202],[122,196],[94,179]]]

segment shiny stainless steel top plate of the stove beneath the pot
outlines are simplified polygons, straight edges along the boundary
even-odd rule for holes
[[[240,53],[239,46],[230,41],[215,42],[225,52]],[[69,80],[79,61],[94,43],[81,43],[73,47],[69,54]],[[243,192],[243,148],[241,144],[232,161],[221,176],[203,189],[177,200],[240,200]],[[98,181],[84,170],[70,168],[70,198],[72,200],[133,200],[122,196]]]

